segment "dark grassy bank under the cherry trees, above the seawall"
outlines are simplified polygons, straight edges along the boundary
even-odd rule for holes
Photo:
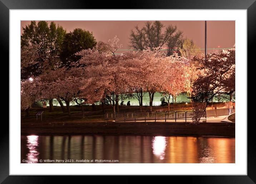
[[[110,105],[105,106],[105,111],[113,111]],[[170,111],[174,110],[191,110],[192,107],[190,104],[179,103],[179,104],[171,104]],[[103,122],[104,121],[104,113],[102,111],[101,105],[95,106],[95,111],[92,110],[92,106],[84,106],[84,118],[81,107],[79,106],[70,106],[71,117],[68,116],[68,113],[63,113],[61,107],[54,106],[54,112],[49,112],[49,107],[47,108],[31,108],[29,111],[29,116],[26,116],[25,112],[21,112],[21,123],[33,123],[36,122],[35,114],[38,111],[43,112],[43,121],[42,122]],[[143,106],[142,111],[149,111],[149,106]],[[168,111],[167,106],[153,106],[153,111]],[[119,106],[119,111],[123,112],[133,112],[140,111],[139,106]],[[40,121],[40,118],[38,119]]]

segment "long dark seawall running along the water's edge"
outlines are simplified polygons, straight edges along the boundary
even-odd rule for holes
[[[97,122],[23,124],[21,134],[131,134],[154,136],[230,136],[235,123]]]

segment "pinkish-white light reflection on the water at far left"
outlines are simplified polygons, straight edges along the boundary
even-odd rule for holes
[[[29,163],[34,163],[38,160],[38,136],[27,136],[27,148],[29,149],[29,153],[26,154]]]

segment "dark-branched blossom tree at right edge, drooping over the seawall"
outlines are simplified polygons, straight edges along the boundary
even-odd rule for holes
[[[208,54],[206,58],[194,58],[200,63],[200,70],[193,82],[192,99],[204,106],[197,110],[197,117],[202,117],[206,107],[217,94],[232,94],[235,92],[235,47],[223,50],[221,53]],[[198,108],[198,107],[195,107]],[[195,118],[199,123],[200,118]]]

